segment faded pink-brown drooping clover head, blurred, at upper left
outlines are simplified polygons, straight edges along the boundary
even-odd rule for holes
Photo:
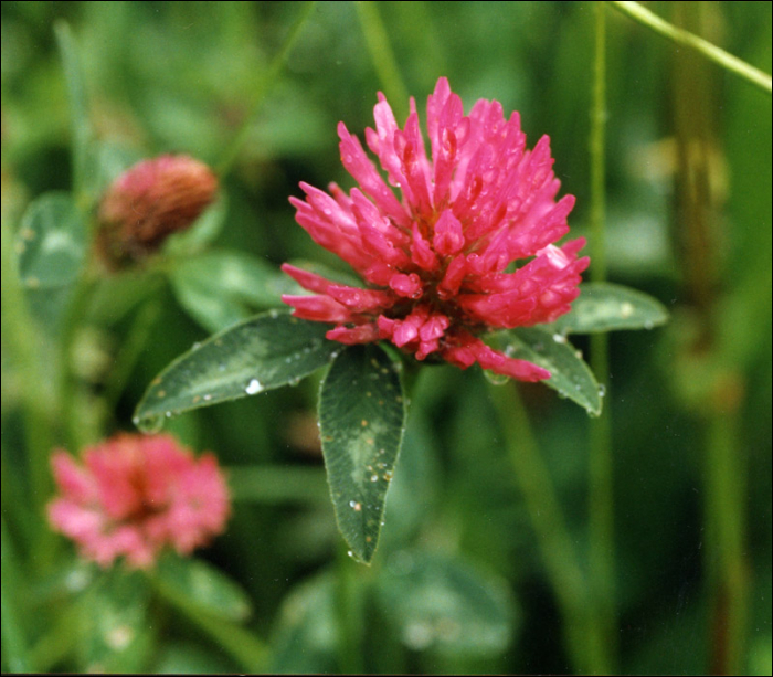
[[[110,266],[156,252],[174,232],[189,228],[214,200],[218,178],[184,155],[137,162],[120,174],[99,204],[98,244]]]

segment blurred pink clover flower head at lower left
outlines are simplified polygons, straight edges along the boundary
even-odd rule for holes
[[[84,453],[51,458],[61,495],[49,504],[54,529],[107,567],[126,556],[147,568],[171,546],[181,554],[221,533],[229,494],[211,454],[195,459],[170,435],[118,434]]]

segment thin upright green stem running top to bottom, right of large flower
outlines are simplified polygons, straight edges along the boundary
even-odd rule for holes
[[[606,127],[606,8],[595,3],[595,49],[593,104],[591,109],[591,279],[606,279],[605,230],[605,127]],[[591,337],[591,367],[599,383],[608,392],[608,339],[605,334]],[[590,579],[596,618],[602,638],[604,673],[614,673],[615,561],[614,561],[614,472],[612,413],[607,396],[597,419],[591,420],[589,458],[589,541]]]

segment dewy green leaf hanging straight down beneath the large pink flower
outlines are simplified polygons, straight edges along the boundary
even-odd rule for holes
[[[366,563],[379,543],[405,413],[400,375],[381,348],[338,356],[319,394],[319,430],[338,528]]]

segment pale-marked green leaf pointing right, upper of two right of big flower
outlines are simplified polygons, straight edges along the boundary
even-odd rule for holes
[[[580,285],[572,309],[542,328],[559,334],[592,334],[652,329],[667,320],[666,307],[647,294],[608,282],[589,282]]]

